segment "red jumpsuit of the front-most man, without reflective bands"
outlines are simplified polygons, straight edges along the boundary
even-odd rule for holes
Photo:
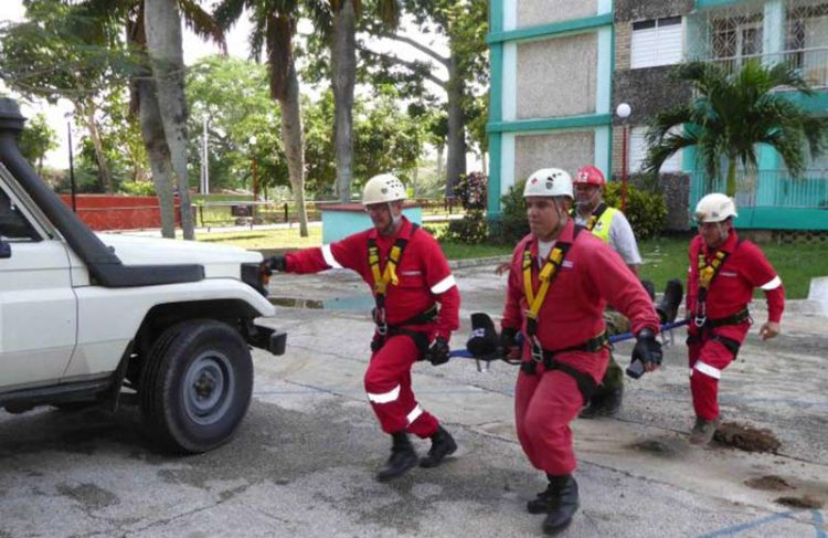
[[[574,222],[564,226],[559,241],[572,242]],[[523,289],[522,261],[530,242],[532,259],[538,260],[538,241],[528,235],[514,249],[503,308],[503,328],[526,334],[524,310],[529,309]],[[538,264],[532,279],[538,289]],[[538,333],[543,349],[577,346],[604,331],[604,308],[609,303],[630,319],[633,331],[644,328],[658,333],[659,323],[647,292],[618,254],[606,243],[585,231],[570,247],[552,282],[538,315]],[[609,350],[598,352],[567,351],[554,356],[590,375],[599,383],[609,360]],[[531,360],[530,346],[523,346],[523,360]],[[518,439],[531,464],[551,475],[575,470],[570,422],[583,405],[575,379],[561,370],[544,372],[538,365],[534,375],[518,373],[514,397],[514,422]]]

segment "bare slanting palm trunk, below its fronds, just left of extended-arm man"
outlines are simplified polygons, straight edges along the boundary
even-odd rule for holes
[[[285,76],[285,97],[279,99],[282,107],[282,140],[287,156],[287,171],[294,190],[299,214],[299,235],[308,236],[308,214],[305,210],[305,135],[301,128],[299,106],[299,80],[296,66],[291,63]]]

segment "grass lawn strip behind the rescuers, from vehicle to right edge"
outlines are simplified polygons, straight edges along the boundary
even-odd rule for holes
[[[241,232],[201,233],[199,241],[225,243],[244,249],[305,249],[322,244],[321,228],[310,228],[308,238],[300,238],[298,229],[290,230],[251,230]],[[640,274],[656,284],[661,292],[670,278],[687,281],[688,238],[659,238],[639,244],[644,265]],[[446,257],[466,260],[511,254],[511,246],[468,245],[464,243],[440,242]],[[828,276],[828,245],[764,244],[765,255],[779,273],[788,298],[802,299],[808,296],[810,278]],[[762,292],[757,292],[762,296]]]

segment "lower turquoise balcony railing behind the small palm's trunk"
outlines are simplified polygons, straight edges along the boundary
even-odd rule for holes
[[[704,172],[691,173],[690,203],[696,205],[710,192],[724,192],[725,180],[710,180]],[[824,209],[828,211],[828,169],[805,170],[794,179],[787,170],[740,172],[736,177],[736,207]],[[826,215],[828,218],[828,214]]]

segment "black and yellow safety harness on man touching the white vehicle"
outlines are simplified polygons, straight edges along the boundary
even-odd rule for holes
[[[433,304],[425,312],[412,316],[396,325],[389,325],[385,310],[385,296],[388,294],[389,285],[397,285],[400,283],[400,278],[396,275],[396,267],[400,266],[403,252],[405,252],[405,246],[411,241],[411,238],[414,236],[414,232],[418,229],[420,226],[417,224],[412,224],[411,233],[407,238],[396,238],[396,241],[394,241],[394,244],[389,251],[384,270],[380,266],[381,255],[380,247],[376,245],[376,240],[374,238],[368,239],[368,265],[371,267],[371,274],[374,281],[373,288],[375,307],[372,314],[374,324],[376,324],[376,335],[371,341],[371,351],[373,352],[382,349],[382,346],[385,345],[389,337],[396,335],[410,336],[414,340],[414,344],[416,344],[417,349],[420,349],[421,355],[425,354],[428,349],[428,335],[426,333],[422,330],[404,329],[402,327],[432,323],[434,318],[437,317],[438,313],[436,304]]]

